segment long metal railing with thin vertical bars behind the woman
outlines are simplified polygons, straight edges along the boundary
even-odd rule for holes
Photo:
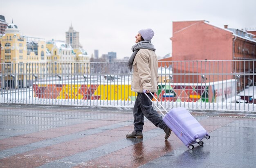
[[[126,62],[0,63],[0,104],[133,107]],[[166,108],[256,111],[256,60],[159,61]]]

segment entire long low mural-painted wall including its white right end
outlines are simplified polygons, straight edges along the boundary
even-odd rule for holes
[[[236,81],[214,83],[161,83],[155,96],[159,101],[221,102],[235,96]],[[34,84],[34,97],[82,100],[135,100],[130,85]],[[234,94],[233,94],[234,93]]]

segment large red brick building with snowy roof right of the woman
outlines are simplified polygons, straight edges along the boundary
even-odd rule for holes
[[[204,60],[245,60],[256,59],[256,41],[253,40],[255,35],[238,29],[225,27],[220,28],[209,24],[209,22],[200,21],[184,21],[173,22],[172,48],[173,56],[171,60],[179,61],[173,64],[173,73],[220,73],[218,67],[225,66],[230,72],[241,72],[238,66],[226,64],[225,61],[204,61]],[[202,63],[193,64],[195,60],[202,60]],[[162,61],[162,60],[159,60]],[[180,61],[183,61],[180,63]],[[252,63],[254,62],[254,64]],[[246,62],[240,66],[243,72],[253,70],[256,61]],[[239,63],[239,65],[241,65]],[[254,66],[254,67],[253,67]],[[214,67],[214,68],[213,68]],[[227,67],[227,68],[226,68]],[[226,79],[234,79],[234,76],[218,75],[206,76],[206,82],[220,81]],[[185,75],[173,76],[174,82],[178,83],[201,83],[201,75],[186,77]],[[255,79],[254,79],[255,80]],[[241,85],[246,85],[241,83]]]

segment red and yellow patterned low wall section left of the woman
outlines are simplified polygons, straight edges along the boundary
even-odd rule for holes
[[[82,100],[128,100],[136,96],[130,85],[34,84],[34,97]]]

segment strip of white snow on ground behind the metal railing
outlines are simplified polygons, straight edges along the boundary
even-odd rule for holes
[[[0,97],[2,104],[26,104],[26,105],[54,105],[54,106],[76,106],[76,107],[115,107],[132,108],[134,100],[81,100],[81,99],[46,99],[35,98],[32,88],[15,89],[12,93],[2,92]],[[155,102],[157,104],[157,102]],[[192,111],[224,111],[224,112],[246,112],[255,113],[256,104],[252,103],[205,103],[205,102],[178,102],[164,101],[162,106],[168,109],[185,107]],[[160,105],[158,105],[161,108]],[[163,110],[164,111],[164,110]]]

